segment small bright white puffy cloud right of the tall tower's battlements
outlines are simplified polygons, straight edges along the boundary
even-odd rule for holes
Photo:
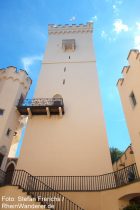
[[[127,32],[129,30],[128,25],[124,24],[121,19],[115,20],[113,25],[114,25],[114,31],[116,33],[120,33],[122,31]]]

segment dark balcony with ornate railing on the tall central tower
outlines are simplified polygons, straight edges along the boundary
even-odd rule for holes
[[[64,115],[62,98],[34,98],[20,101],[17,110],[21,115]]]

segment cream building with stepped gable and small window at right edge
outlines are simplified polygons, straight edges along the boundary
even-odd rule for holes
[[[140,52],[130,50],[128,66],[122,70],[123,78],[117,86],[132,141],[135,161],[140,174]]]

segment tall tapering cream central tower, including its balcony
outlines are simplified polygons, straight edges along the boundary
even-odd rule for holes
[[[34,99],[19,107],[30,119],[18,168],[56,176],[112,171],[92,30],[92,23],[49,25]]]

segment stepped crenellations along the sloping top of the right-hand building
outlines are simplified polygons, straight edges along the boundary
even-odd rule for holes
[[[117,82],[117,86],[121,87],[123,83],[125,82],[125,79],[130,71],[132,71],[132,66],[134,65],[140,65],[140,51],[136,49],[130,50],[128,57],[127,57],[128,66],[124,66],[122,69],[122,78],[120,78]]]

